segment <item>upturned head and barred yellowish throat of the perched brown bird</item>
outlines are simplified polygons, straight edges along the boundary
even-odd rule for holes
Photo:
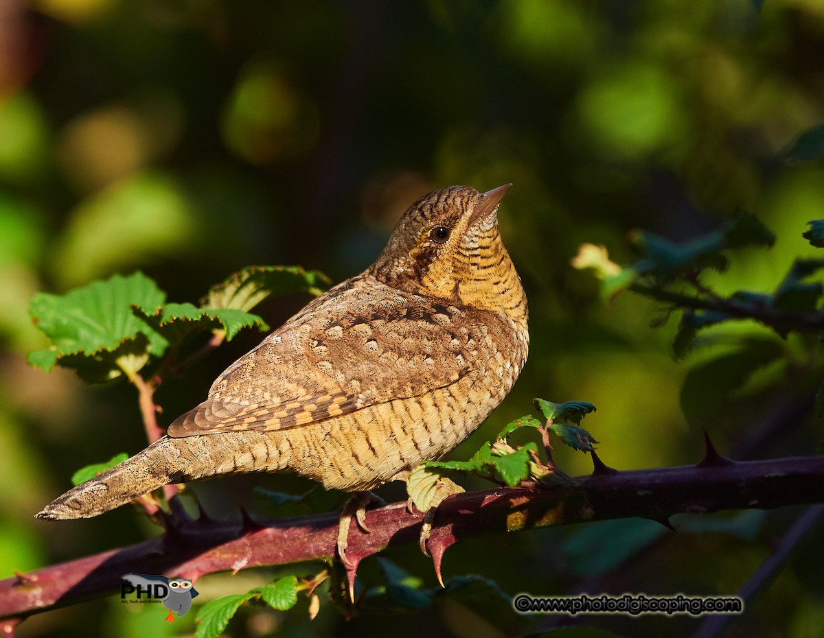
[[[420,198],[368,272],[404,291],[496,307],[496,282],[501,286],[513,275],[517,280],[498,232],[499,203],[510,186],[486,193],[452,186]]]

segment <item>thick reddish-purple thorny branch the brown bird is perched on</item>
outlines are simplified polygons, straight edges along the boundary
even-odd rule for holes
[[[735,463],[709,446],[695,466],[616,472],[593,456],[591,476],[571,482],[471,491],[438,508],[428,548],[440,575],[444,552],[463,538],[591,520],[642,516],[667,523],[681,512],[771,509],[824,501],[824,457]],[[418,541],[424,514],[405,503],[368,513],[371,533],[353,524],[347,556],[354,578],[359,561],[385,547]],[[66,523],[63,523],[66,524]],[[218,522],[180,512],[166,533],[129,547],[44,567],[0,581],[0,618],[25,617],[115,589],[129,571],[196,580],[217,571],[328,559],[338,515],[328,513],[256,523]]]

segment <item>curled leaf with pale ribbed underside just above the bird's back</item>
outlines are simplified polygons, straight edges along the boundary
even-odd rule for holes
[[[329,283],[329,277],[322,272],[306,271],[300,266],[249,266],[209,288],[200,305],[251,310],[268,296],[304,291],[320,295]]]

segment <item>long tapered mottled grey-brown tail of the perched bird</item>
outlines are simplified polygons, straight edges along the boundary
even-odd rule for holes
[[[278,462],[276,454],[266,454],[266,463],[251,463],[246,459],[250,447],[254,449],[266,442],[260,439],[262,434],[235,432],[231,439],[227,437],[229,445],[214,445],[221,435],[164,436],[131,459],[73,487],[46,505],[35,518],[87,519],[114,510],[167,483],[195,481],[217,474],[281,469],[283,463]]]

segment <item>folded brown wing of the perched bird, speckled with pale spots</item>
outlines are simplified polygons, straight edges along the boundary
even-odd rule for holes
[[[484,338],[467,312],[371,277],[344,282],[230,366],[168,433],[283,430],[453,384]]]

